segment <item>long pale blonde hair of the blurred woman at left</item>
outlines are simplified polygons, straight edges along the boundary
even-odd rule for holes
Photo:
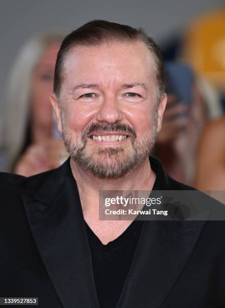
[[[6,153],[6,171],[13,163],[25,142],[30,118],[31,76],[34,67],[48,45],[61,43],[61,33],[43,33],[30,39],[20,50],[7,83],[2,119],[2,148]]]

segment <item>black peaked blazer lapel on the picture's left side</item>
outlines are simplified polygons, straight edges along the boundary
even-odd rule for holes
[[[99,307],[75,180],[66,162],[33,198],[23,195],[31,233],[65,307]]]

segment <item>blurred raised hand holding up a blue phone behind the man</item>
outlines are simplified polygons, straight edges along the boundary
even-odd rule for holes
[[[196,116],[199,106],[194,102],[187,106],[176,97],[168,96],[156,143],[156,151],[169,175],[189,185],[193,180],[193,162],[201,128]]]

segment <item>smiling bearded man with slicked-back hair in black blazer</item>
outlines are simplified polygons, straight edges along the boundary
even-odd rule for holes
[[[166,100],[143,30],[92,21],[64,39],[51,101],[70,160],[2,175],[1,296],[41,307],[225,303],[222,221],[98,218],[102,190],[190,189],[149,160]]]

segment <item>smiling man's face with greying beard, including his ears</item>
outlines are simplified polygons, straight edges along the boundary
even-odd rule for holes
[[[56,99],[53,106],[73,161],[96,177],[119,178],[147,159],[165,108],[161,103],[157,112],[148,48],[142,43],[74,47],[64,74],[61,110]]]

